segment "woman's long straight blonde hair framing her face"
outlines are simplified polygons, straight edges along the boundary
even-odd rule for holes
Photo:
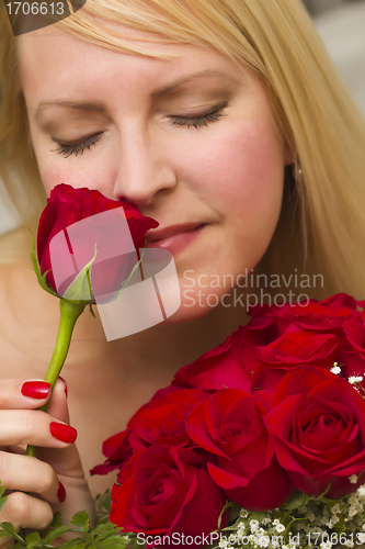
[[[24,215],[24,202],[37,204],[43,191],[3,9],[0,19],[0,177]],[[112,23],[145,31],[149,43],[213,46],[260,75],[299,175],[286,170],[281,219],[258,269],[321,273],[324,288],[312,296],[364,298],[365,122],[300,0],[88,0],[57,26],[110,49],[162,57]]]

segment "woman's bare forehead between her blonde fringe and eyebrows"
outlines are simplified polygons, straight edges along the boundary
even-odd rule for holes
[[[119,71],[124,82],[132,77],[159,78],[179,76],[184,71],[225,68],[238,78],[243,67],[209,46],[193,44],[156,44],[148,42],[148,34],[121,26],[121,33],[133,46],[149,51],[152,56],[116,52],[66,34],[55,26],[42,29],[18,37],[21,78],[26,92],[41,87],[57,88],[81,80],[90,87],[93,81],[109,79]],[[153,56],[155,53],[170,58]],[[248,68],[246,67],[246,72]]]

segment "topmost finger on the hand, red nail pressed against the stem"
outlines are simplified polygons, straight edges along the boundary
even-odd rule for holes
[[[49,397],[50,384],[44,380],[0,380],[0,410],[37,408]]]

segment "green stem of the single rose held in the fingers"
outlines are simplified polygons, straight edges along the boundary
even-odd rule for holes
[[[65,363],[68,349],[71,343],[71,336],[75,328],[76,321],[83,312],[84,305],[79,305],[76,303],[71,303],[70,301],[59,300],[59,311],[60,311],[60,321],[59,328],[57,335],[57,341],[54,350],[54,355],[52,357],[45,381],[48,381],[50,388],[54,389],[57,378],[62,369]],[[48,404],[48,403],[47,403]],[[42,406],[39,410],[46,411],[47,404]],[[26,456],[35,457],[36,446],[28,445],[26,448]]]

